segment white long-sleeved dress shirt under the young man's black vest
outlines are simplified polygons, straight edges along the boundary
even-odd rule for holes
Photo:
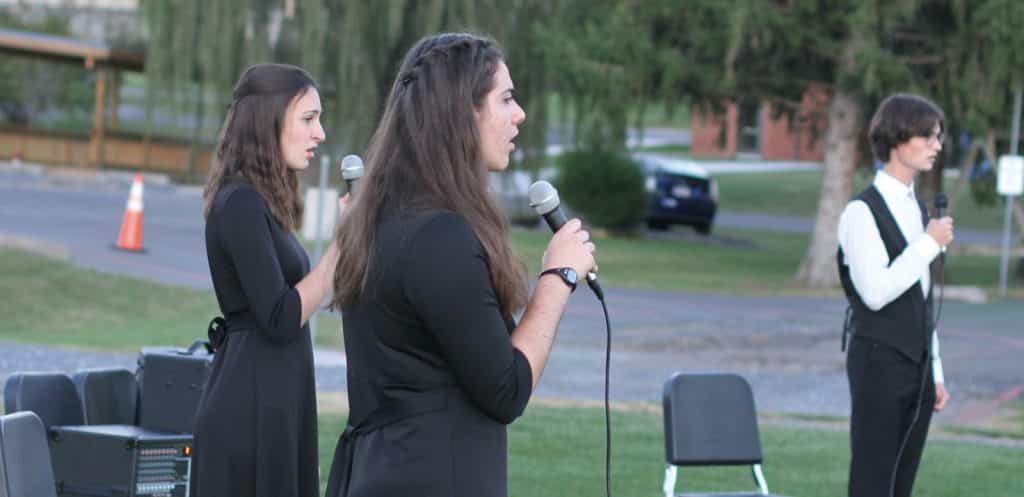
[[[839,218],[839,246],[843,263],[850,266],[850,279],[867,308],[879,310],[921,281],[921,290],[928,297],[931,285],[929,264],[939,254],[935,239],[925,233],[921,207],[909,187],[884,170],[874,175],[874,188],[882,194],[886,207],[896,219],[907,246],[889,263],[889,252],[882,241],[879,226],[867,204],[854,200],[847,204]],[[938,330],[932,332],[932,363],[936,383],[942,383],[942,360],[939,358]]]

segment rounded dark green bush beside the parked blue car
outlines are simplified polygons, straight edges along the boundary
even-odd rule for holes
[[[595,226],[629,232],[647,209],[644,175],[629,157],[605,149],[587,149],[558,158],[555,180],[562,200]]]

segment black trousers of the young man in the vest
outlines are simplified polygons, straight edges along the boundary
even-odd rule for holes
[[[931,359],[926,353],[914,363],[891,346],[854,337],[846,372],[852,408],[849,496],[910,497],[935,406]]]

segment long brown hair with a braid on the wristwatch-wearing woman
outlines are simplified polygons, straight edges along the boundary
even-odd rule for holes
[[[487,190],[475,117],[503,59],[493,40],[462,33],[426,37],[406,54],[367,151],[367,176],[336,235],[332,307],[358,300],[378,224],[407,210],[464,216],[486,253],[502,309],[512,314],[525,305],[525,271]]]

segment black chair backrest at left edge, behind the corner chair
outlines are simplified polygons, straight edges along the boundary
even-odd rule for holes
[[[43,427],[83,424],[82,403],[65,373],[14,373],[3,387],[4,410],[32,411]]]

